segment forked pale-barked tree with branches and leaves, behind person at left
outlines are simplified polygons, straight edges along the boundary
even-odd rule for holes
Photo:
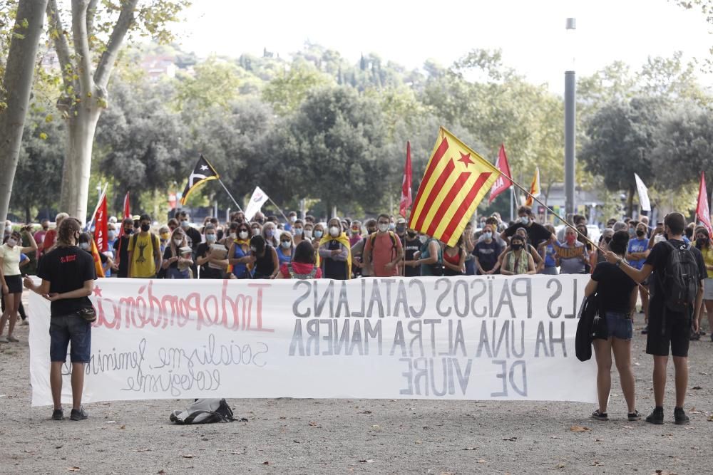
[[[70,34],[58,1],[48,1],[49,35],[63,79],[57,107],[67,123],[63,211],[86,218],[94,133],[108,106],[107,85],[125,37],[139,33],[168,41],[166,26],[188,5],[188,0],[71,0]]]

